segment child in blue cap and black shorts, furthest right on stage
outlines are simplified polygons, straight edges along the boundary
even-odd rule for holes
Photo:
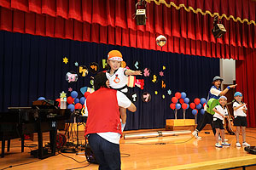
[[[234,94],[235,102],[233,104],[234,110],[234,126],[236,127],[236,147],[241,147],[239,143],[239,133],[241,127],[241,136],[242,136],[242,146],[250,146],[246,142],[246,127],[247,127],[247,106],[241,101],[242,94],[236,92]]]

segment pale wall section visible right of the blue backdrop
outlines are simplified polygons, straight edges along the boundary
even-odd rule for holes
[[[223,84],[233,84],[236,80],[236,60],[219,59],[220,77],[224,78]]]

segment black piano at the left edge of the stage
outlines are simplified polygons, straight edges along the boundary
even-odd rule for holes
[[[42,101],[41,101],[42,102]],[[34,151],[39,159],[55,155],[55,139],[57,129],[65,128],[65,120],[71,111],[59,109],[52,105],[33,105],[33,107],[9,107],[8,112],[0,112],[0,139],[2,141],[2,157],[4,157],[5,141],[21,139],[21,152],[24,151],[24,134],[38,133],[38,150]],[[43,147],[43,133],[49,132],[50,152]]]

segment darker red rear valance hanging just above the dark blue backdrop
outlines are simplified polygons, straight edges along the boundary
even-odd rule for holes
[[[171,12],[174,20],[175,17],[173,15],[177,13],[177,10],[173,9]],[[171,14],[171,12],[168,13]],[[196,23],[191,22],[194,23],[192,28],[200,27],[201,16],[196,16],[196,18],[187,17],[189,23],[191,20],[196,20]],[[167,19],[164,18],[163,20]],[[161,22],[162,20],[159,20],[158,24],[160,25]],[[88,22],[64,19],[62,17],[52,17],[48,14],[25,13],[20,10],[0,8],[0,30],[86,42],[108,43],[134,48],[162,50],[179,54],[183,53],[225,59],[244,59],[244,47],[222,44],[221,41],[215,42],[215,38],[212,37],[210,31],[206,28],[204,28],[202,32],[199,32],[195,29],[187,29],[186,22],[181,22],[180,26],[177,26],[177,29],[181,26],[185,29],[185,31],[181,31],[181,33],[174,31],[174,29],[167,30],[172,34],[172,36],[166,36],[167,44],[161,49],[155,43],[155,38],[159,35],[158,33],[139,30],[135,31],[133,29],[125,29],[119,26],[102,26],[100,24],[90,24]],[[151,31],[152,29],[153,27],[148,28],[148,30]],[[193,30],[194,33],[188,33],[185,35],[189,30],[191,30],[191,32]],[[201,38],[195,37],[195,34],[201,35],[198,36]],[[204,38],[205,34],[209,35],[211,38]],[[178,37],[178,35],[185,36]],[[197,40],[194,40],[193,38]],[[207,42],[207,39],[212,39],[214,42]]]

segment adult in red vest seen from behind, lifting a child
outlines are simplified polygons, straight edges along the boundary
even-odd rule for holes
[[[88,118],[84,136],[88,138],[99,169],[120,169],[119,139],[122,127],[119,107],[132,112],[137,108],[125,94],[107,88],[107,80],[104,72],[99,72],[94,78],[96,91],[87,96],[85,103]]]

